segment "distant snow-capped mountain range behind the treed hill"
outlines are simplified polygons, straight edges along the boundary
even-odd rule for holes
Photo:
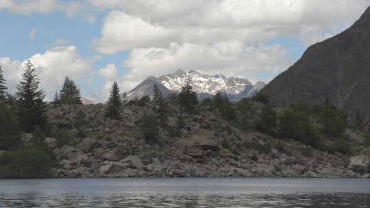
[[[161,77],[148,77],[136,88],[127,93],[128,99],[140,99],[145,95],[153,96],[153,88],[156,84],[164,95],[177,93],[182,90],[186,83],[193,86],[198,93],[199,99],[212,97],[217,92],[223,92],[231,101],[239,101],[245,97],[251,97],[263,87],[262,81],[252,85],[248,79],[230,77],[223,75],[204,75],[195,70],[185,72],[178,69],[175,73],[162,75]]]

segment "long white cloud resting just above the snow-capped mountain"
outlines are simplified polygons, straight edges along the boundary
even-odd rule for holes
[[[261,73],[273,76],[289,64],[285,50],[279,44],[244,47],[241,42],[173,43],[168,49],[134,49],[125,61],[125,67],[132,70],[123,77],[122,88],[131,90],[148,75],[158,77],[173,73],[177,68],[197,70],[208,75],[221,73],[227,77],[246,77],[255,82],[262,79],[258,79]]]

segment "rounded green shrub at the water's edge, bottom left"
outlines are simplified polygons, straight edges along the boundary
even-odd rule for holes
[[[0,178],[51,177],[52,157],[40,148],[9,151],[0,156]]]

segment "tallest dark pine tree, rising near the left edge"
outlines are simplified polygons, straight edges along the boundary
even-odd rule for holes
[[[18,119],[22,126],[23,131],[32,133],[35,126],[40,128],[45,127],[45,92],[39,90],[40,81],[36,75],[36,69],[30,61],[24,66],[24,73],[22,80],[16,86],[18,92],[17,105],[18,105]]]

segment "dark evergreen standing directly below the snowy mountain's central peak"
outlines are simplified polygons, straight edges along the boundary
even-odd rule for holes
[[[180,105],[184,107],[186,112],[193,112],[198,105],[197,92],[193,91],[193,87],[189,83],[186,83],[182,87],[181,92],[179,93]]]

